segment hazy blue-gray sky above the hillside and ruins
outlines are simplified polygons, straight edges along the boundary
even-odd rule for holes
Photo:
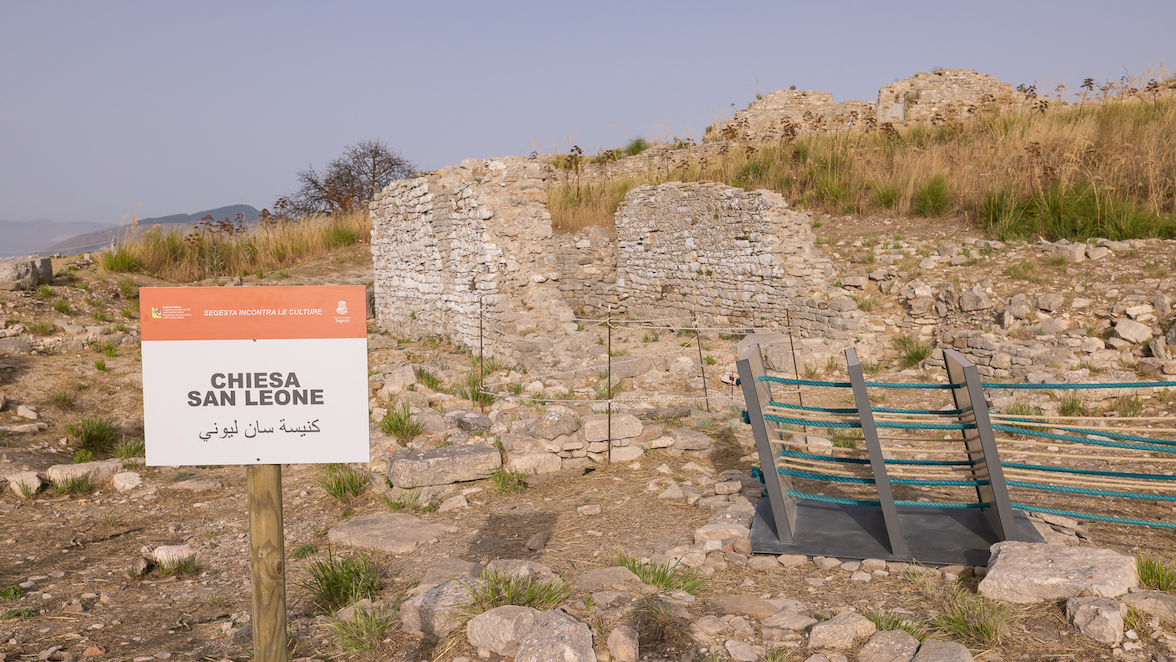
[[[796,85],[1176,66],[1176,2],[0,0],[0,219],[270,206],[379,138],[422,168],[694,135]],[[2,238],[0,238],[2,243]]]

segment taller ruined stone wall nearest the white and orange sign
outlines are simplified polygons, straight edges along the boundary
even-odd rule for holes
[[[519,334],[566,330],[573,306],[607,306],[615,247],[600,228],[552,233],[550,176],[537,159],[467,159],[388,185],[370,207],[380,327],[477,347],[481,315],[487,354],[522,362],[542,342]]]

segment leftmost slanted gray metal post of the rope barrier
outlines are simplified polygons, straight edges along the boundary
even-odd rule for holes
[[[776,472],[776,457],[771,449],[771,435],[768,422],[763,420],[763,408],[771,400],[771,389],[760,376],[768,372],[763,367],[763,355],[760,346],[747,348],[736,363],[740,386],[743,388],[743,400],[747,403],[748,420],[751,423],[751,436],[760,455],[760,470],[763,472],[763,483],[771,504],[773,522],[780,542],[790,543],[796,534],[796,499],[788,496],[793,489],[793,480]]]

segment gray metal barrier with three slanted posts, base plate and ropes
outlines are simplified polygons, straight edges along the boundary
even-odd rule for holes
[[[767,375],[760,347],[749,347],[737,366],[767,493],[753,521],[751,549],[984,564],[994,542],[1041,542],[1025,515],[1009,501],[976,367],[950,349],[944,359],[947,385],[868,382],[856,353],[848,349],[849,382],[813,382]],[[773,399],[773,382],[849,388],[854,407],[780,402]],[[950,390],[951,404],[942,409],[873,407],[869,387]],[[823,428],[834,441],[811,434],[810,428]],[[954,449],[923,448],[926,442],[946,441],[942,434],[958,435]],[[864,455],[858,442],[864,444]],[[909,452],[917,456],[902,456]],[[923,457],[935,453],[944,459]],[[828,487],[822,489],[822,483]],[[896,499],[894,494],[924,488],[948,490],[960,500]]]

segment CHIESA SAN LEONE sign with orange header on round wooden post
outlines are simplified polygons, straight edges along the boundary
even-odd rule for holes
[[[139,296],[147,464],[248,467],[254,660],[286,662],[281,466],[370,459],[365,289]]]

